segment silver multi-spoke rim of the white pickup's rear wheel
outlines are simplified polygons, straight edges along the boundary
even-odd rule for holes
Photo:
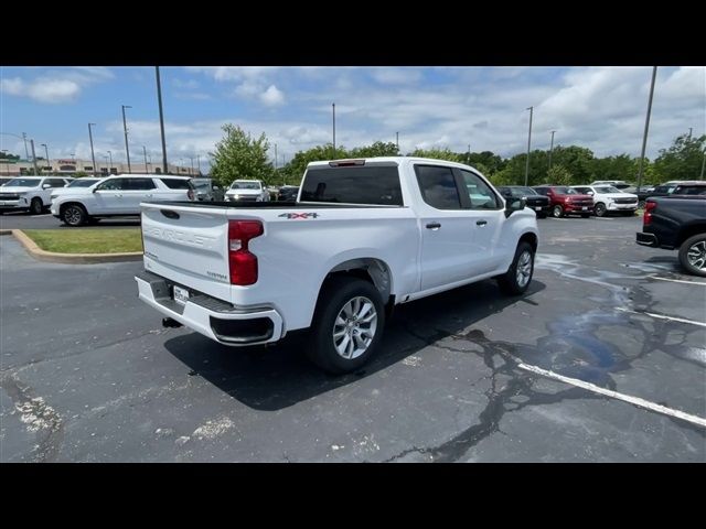
[[[343,305],[333,323],[333,345],[341,357],[352,360],[370,347],[377,330],[377,311],[359,295]]]

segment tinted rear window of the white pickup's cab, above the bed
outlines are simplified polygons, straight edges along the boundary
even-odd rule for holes
[[[396,166],[310,169],[301,201],[402,206],[399,173]]]

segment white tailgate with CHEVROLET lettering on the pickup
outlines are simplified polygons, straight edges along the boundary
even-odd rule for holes
[[[231,301],[225,208],[141,204],[145,268]]]

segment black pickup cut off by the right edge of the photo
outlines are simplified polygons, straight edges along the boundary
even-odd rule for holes
[[[678,249],[682,267],[688,273],[706,277],[706,196],[648,198],[637,242]]]

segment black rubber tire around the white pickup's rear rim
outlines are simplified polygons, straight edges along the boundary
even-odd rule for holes
[[[345,333],[349,334],[349,339],[345,344],[352,343],[356,345],[360,343],[357,341],[360,338],[354,339],[350,337],[352,336],[351,333],[355,333],[356,330],[360,331],[363,328],[363,333],[357,336],[365,336],[365,331],[370,330],[364,327],[365,325],[368,325],[367,323],[362,324],[363,327],[347,326],[346,328],[346,326],[336,325],[338,316],[343,312],[344,306],[359,298],[364,298],[373,303],[376,316],[373,337],[367,347],[361,352],[359,356],[354,356],[356,352],[352,352],[352,358],[345,358],[339,354],[339,350],[336,349],[334,342],[335,327],[342,327],[339,333],[344,333],[342,342],[339,344],[339,346],[343,346],[343,348],[345,348]],[[363,304],[362,309],[364,306],[365,305]],[[370,314],[368,309],[365,313],[365,317],[368,317]],[[353,324],[353,322],[349,322],[349,325],[351,324]],[[321,289],[321,293],[319,294],[317,310],[314,312],[309,333],[307,356],[321,369],[334,375],[354,371],[363,366],[363,364],[367,363],[375,354],[377,345],[383,336],[384,326],[385,307],[379,292],[372,283],[351,277],[332,278],[324,283]]]

